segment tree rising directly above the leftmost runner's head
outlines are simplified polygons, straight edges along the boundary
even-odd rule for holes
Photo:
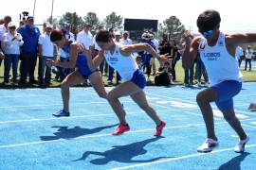
[[[84,25],[82,17],[78,16],[76,12],[66,12],[60,19],[59,25],[64,26],[64,23],[69,23],[71,25],[71,31],[76,32],[81,29]]]

